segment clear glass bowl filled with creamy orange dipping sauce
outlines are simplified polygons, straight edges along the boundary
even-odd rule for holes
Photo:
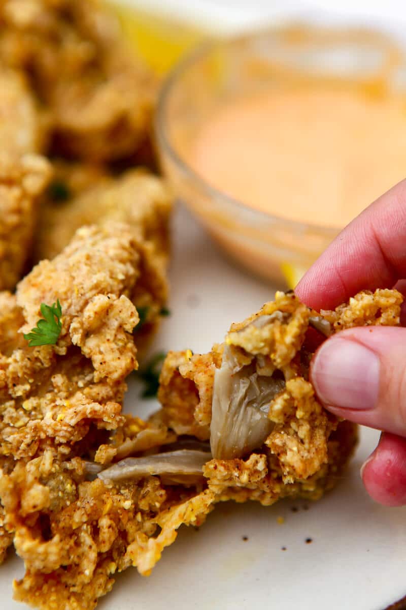
[[[164,173],[230,259],[293,288],[406,178],[405,75],[404,46],[358,27],[213,41],[161,92]]]

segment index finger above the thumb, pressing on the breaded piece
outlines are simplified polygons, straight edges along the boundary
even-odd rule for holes
[[[295,292],[310,307],[333,309],[360,290],[406,278],[406,180],[357,216],[310,267]]]

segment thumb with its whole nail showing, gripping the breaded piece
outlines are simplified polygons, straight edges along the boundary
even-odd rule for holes
[[[406,437],[406,328],[341,331],[313,357],[310,379],[335,415]]]

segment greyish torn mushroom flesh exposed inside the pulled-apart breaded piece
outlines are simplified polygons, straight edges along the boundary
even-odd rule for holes
[[[221,365],[214,372],[211,404],[210,447],[216,459],[243,458],[261,448],[275,427],[275,422],[268,417],[271,404],[285,389],[285,382],[298,375],[299,364],[293,364],[293,359],[303,345],[309,323],[324,337],[331,333],[329,322],[303,304],[298,306],[293,295],[278,293],[277,296],[277,305],[266,304],[256,317],[243,325],[233,325],[226,337]],[[280,349],[281,345],[284,350]],[[142,434],[127,440],[117,451],[116,459],[147,449]],[[165,437],[164,443],[168,440],[172,439]],[[111,476],[114,480],[117,476],[133,478],[146,473],[171,475],[173,481],[176,474],[177,481],[180,482],[181,476],[183,483],[185,476],[190,481],[190,476],[196,473],[173,470],[169,473],[162,468],[173,463],[178,467],[179,462],[172,459],[181,455],[187,455],[187,464],[190,464],[192,456],[201,455],[201,450],[207,455],[204,447],[181,447],[175,441],[166,450],[161,447],[155,456],[117,462],[100,473],[100,477]],[[153,471],[158,464],[158,471]],[[149,467],[147,471],[142,470],[145,465]]]

